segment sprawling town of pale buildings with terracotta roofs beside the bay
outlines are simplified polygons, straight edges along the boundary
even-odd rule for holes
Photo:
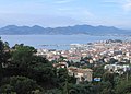
[[[102,77],[93,78],[93,67],[104,64],[109,72],[123,74],[131,69],[131,42],[102,40],[87,44],[71,44],[69,50],[38,49],[37,56],[53,61],[53,67],[68,68],[69,74],[82,81],[100,81]],[[92,67],[91,67],[92,66]]]

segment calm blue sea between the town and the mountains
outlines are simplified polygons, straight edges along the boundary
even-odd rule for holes
[[[107,39],[130,39],[128,36],[95,36],[95,35],[0,35],[3,42],[8,42],[10,47],[15,44],[33,46],[36,49],[59,49],[67,50],[70,44],[87,44]]]

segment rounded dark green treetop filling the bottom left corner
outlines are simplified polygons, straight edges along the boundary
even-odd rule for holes
[[[2,80],[1,93],[10,94],[33,94],[34,91],[41,87],[35,81],[25,77],[11,77]]]

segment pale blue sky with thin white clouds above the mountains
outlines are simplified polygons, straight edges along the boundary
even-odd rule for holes
[[[131,28],[131,0],[0,0],[0,27],[78,24]]]

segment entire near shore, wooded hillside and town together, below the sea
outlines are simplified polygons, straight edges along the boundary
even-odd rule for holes
[[[131,42],[57,50],[0,39],[0,94],[131,94]]]

